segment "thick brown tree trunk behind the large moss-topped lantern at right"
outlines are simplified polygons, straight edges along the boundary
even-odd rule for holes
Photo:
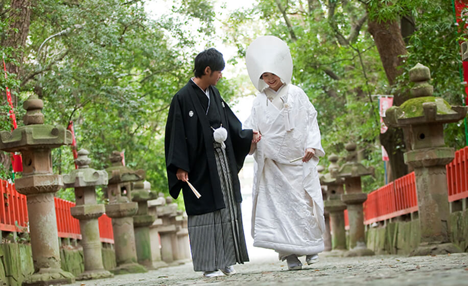
[[[402,73],[402,70],[398,68],[402,64],[401,56],[407,54],[400,25],[397,20],[378,22],[377,19],[369,19],[368,29],[379,51],[387,80],[390,85],[393,85],[396,83],[396,78]],[[397,92],[393,96],[393,104],[396,106],[408,99],[407,93],[404,91]],[[406,175],[408,167],[403,159],[405,141],[402,129],[389,128],[387,132],[380,134],[380,142],[387,150],[390,159],[392,180]]]

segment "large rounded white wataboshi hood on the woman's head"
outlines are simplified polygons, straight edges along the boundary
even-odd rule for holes
[[[268,85],[260,79],[263,73],[272,73],[285,83],[291,82],[293,63],[288,45],[275,36],[256,38],[247,48],[245,62],[250,80],[259,91]]]

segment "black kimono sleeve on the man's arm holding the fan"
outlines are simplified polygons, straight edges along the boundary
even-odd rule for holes
[[[191,171],[184,122],[177,94],[172,99],[169,108],[164,140],[169,193],[176,199],[183,183],[176,177],[177,170],[180,168],[187,172]]]

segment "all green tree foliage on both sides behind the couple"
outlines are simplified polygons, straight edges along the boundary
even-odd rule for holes
[[[285,40],[294,61],[292,81],[318,111],[326,153],[344,157],[344,143],[354,141],[363,162],[376,167],[376,178],[365,179],[366,190],[384,182],[378,102],[372,95],[406,96],[408,70],[421,62],[431,68],[434,95],[462,104],[457,41],[464,35],[444,1],[256,0],[252,8],[222,19],[214,0],[178,0],[167,2],[172,8],[155,19],[139,0],[31,0],[25,2],[30,3],[25,31],[25,25],[13,25],[15,3],[0,1],[0,40],[27,33],[27,41],[0,46],[15,67],[8,69],[8,80],[0,77],[0,86],[17,98],[17,118],[24,113],[21,103],[36,93],[44,101],[46,123],[74,122],[78,148],[90,151],[93,168],[105,168],[111,151],[125,150],[127,164],[147,170],[147,179],[163,192],[168,105],[190,78],[196,53],[213,46],[214,39],[237,47],[229,64],[243,63],[247,46],[260,35]],[[369,32],[369,23],[385,28],[390,22],[410,31],[399,35],[406,51],[393,58],[399,62],[395,80],[389,80],[385,51]],[[245,74],[218,84],[225,99],[249,93],[248,86]],[[5,102],[2,130],[11,129],[7,110]],[[461,124],[447,125],[447,145],[461,148],[462,133]],[[401,140],[391,144],[404,148]],[[54,150],[53,158],[58,173],[74,168],[69,147]],[[2,172],[7,176],[8,170]]]

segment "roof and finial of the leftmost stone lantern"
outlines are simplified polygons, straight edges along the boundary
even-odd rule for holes
[[[44,114],[41,112],[43,107],[42,100],[36,95],[30,96],[23,103],[23,108],[26,109],[26,115],[23,117],[25,125],[12,132],[0,132],[0,150],[17,152],[38,147],[52,149],[72,144],[72,132],[63,126],[44,124]]]

